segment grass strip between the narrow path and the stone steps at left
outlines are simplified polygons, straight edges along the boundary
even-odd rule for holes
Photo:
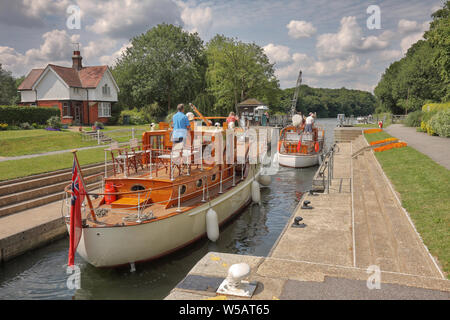
[[[103,148],[81,150],[77,152],[77,155],[80,165],[103,162],[105,160]],[[0,162],[0,181],[71,168],[72,165],[73,155],[71,152],[30,159],[2,161]]]

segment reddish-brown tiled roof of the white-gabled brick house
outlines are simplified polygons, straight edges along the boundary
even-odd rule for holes
[[[61,67],[49,64],[61,79],[69,86],[75,88],[97,88],[108,66],[84,67],[80,71],[70,67]],[[33,69],[20,84],[18,90],[31,90],[36,80],[45,69]]]

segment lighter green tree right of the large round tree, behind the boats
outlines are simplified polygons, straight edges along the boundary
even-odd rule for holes
[[[208,92],[215,98],[213,112],[228,113],[250,97],[269,105],[277,103],[278,80],[261,47],[216,35],[206,45],[206,55]]]

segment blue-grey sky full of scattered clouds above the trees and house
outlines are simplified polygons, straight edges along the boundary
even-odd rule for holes
[[[282,88],[298,71],[312,87],[372,91],[428,29],[443,0],[0,0],[0,63],[15,76],[47,63],[113,65],[129,39],[161,22],[264,47]],[[71,16],[79,8],[80,28]],[[374,20],[370,6],[378,6]],[[368,21],[369,20],[369,24]],[[376,22],[379,21],[379,27]],[[375,26],[375,28],[374,28]],[[370,27],[370,28],[369,28]]]

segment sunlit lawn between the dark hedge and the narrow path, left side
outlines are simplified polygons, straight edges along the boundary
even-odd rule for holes
[[[49,151],[66,150],[97,145],[96,141],[82,141],[77,132],[67,130],[0,131],[0,156],[13,157]]]

